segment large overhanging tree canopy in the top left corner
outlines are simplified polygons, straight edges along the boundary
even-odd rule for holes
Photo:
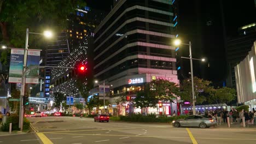
[[[68,25],[68,16],[75,9],[84,7],[83,0],[69,1],[0,1],[0,28],[2,43],[9,47],[24,47],[26,28],[31,32],[43,32],[51,28],[61,32]],[[37,41],[36,43],[34,43]],[[40,43],[41,42],[41,43]],[[39,37],[30,37],[30,49],[38,49],[43,41]],[[4,51],[1,61],[7,63],[7,52]]]

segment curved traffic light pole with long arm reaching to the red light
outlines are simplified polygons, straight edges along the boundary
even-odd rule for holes
[[[26,50],[26,49],[25,49]],[[25,57],[25,56],[24,56]],[[25,81],[27,71],[36,68],[61,68],[61,69],[73,69],[73,67],[52,67],[52,66],[32,66],[24,70],[21,77],[21,91],[20,91],[20,113],[19,113],[19,128],[23,130],[23,120],[24,120],[24,104],[23,104],[23,96],[25,95]]]

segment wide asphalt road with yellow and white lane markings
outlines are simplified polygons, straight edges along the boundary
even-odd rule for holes
[[[0,136],[2,143],[255,143],[255,128],[173,128],[170,124],[94,122],[92,118],[29,118],[37,133]],[[2,142],[1,142],[2,141]]]

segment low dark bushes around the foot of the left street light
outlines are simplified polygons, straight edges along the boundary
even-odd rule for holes
[[[19,130],[19,116],[17,114],[12,114],[7,117],[7,121],[2,125],[2,131],[9,131],[9,125],[11,123],[11,130]],[[24,118],[23,129],[30,128],[30,121],[27,118]]]

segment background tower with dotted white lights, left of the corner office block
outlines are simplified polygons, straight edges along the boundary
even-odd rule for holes
[[[59,67],[73,67],[75,64],[83,63],[88,67],[87,73],[91,74],[91,54],[89,53],[93,46],[95,27],[103,20],[103,17],[104,11],[89,7],[78,8],[77,13],[69,17],[70,25],[66,34],[71,52],[57,64]],[[49,78],[51,79],[50,94],[62,92],[66,95],[79,97],[77,79],[72,69],[54,68],[51,70],[51,77]]]

